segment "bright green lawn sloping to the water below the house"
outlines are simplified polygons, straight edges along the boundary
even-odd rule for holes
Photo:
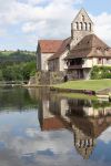
[[[111,80],[69,81],[53,86],[59,89],[99,91],[111,87]]]

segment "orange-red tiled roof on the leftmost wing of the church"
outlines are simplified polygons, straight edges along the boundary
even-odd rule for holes
[[[42,53],[56,53],[60,48],[62,40],[39,40],[38,44]]]

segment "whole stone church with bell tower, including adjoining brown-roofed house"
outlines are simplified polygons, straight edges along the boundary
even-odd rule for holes
[[[42,51],[43,42],[48,51]],[[71,37],[54,42],[39,41],[37,56],[40,71],[61,71],[73,80],[89,79],[93,65],[111,66],[111,49],[93,33],[93,22],[84,9],[71,22]]]

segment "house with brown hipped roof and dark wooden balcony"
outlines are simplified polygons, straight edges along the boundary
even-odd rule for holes
[[[73,79],[90,79],[94,65],[111,66],[111,49],[95,34],[85,35],[65,58]]]

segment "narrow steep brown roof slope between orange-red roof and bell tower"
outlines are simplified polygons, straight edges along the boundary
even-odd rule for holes
[[[61,54],[68,49],[70,42],[71,42],[71,38],[63,40],[58,51],[49,59],[49,61],[60,58]]]

